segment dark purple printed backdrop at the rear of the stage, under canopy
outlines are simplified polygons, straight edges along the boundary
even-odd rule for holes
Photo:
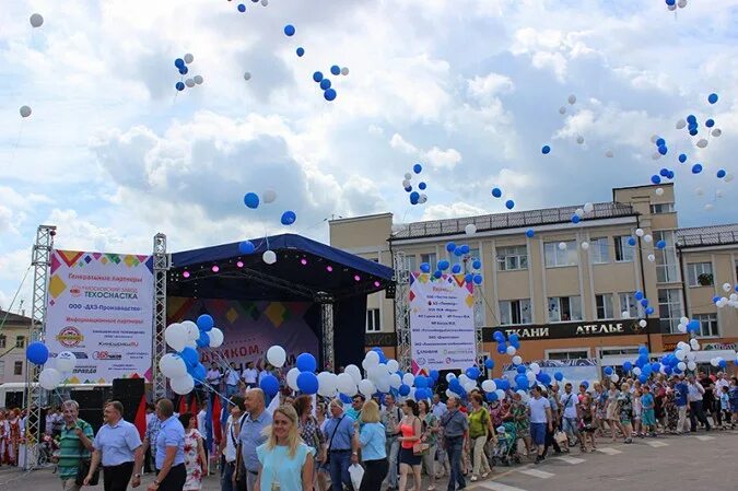
[[[198,350],[200,361],[210,369],[215,362],[222,369],[231,362],[242,370],[246,362],[256,369],[265,365],[267,350],[279,344],[286,351],[285,369],[294,366],[300,353],[318,359],[318,338],[311,330],[305,314],[311,302],[270,302],[222,299],[167,299],[167,324],[194,320],[210,314],[215,327],[223,331],[218,349]]]

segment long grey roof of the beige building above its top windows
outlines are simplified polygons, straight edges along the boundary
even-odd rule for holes
[[[637,215],[637,212],[630,204],[607,201],[595,203],[594,207],[594,211],[587,213],[584,217],[584,221]],[[470,223],[477,225],[477,232],[570,223],[572,221],[572,215],[577,208],[583,208],[583,204],[529,211],[511,211],[507,213],[483,214],[461,219],[414,222],[397,225],[397,229],[399,230],[393,234],[390,241],[462,234],[465,227]]]

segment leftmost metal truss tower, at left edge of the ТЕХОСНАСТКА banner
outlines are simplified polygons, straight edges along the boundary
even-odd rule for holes
[[[36,243],[33,246],[31,265],[33,272],[33,304],[31,307],[31,329],[28,342],[44,341],[46,329],[46,306],[48,302],[49,266],[51,265],[51,252],[54,249],[54,236],[57,227],[54,225],[39,225],[36,230]],[[38,466],[35,459],[36,446],[40,435],[40,407],[42,387],[38,385],[40,367],[26,362],[25,371],[25,400],[28,408],[28,417],[25,423],[25,470],[32,470]]]

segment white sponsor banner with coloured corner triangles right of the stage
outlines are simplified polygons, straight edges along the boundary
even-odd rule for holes
[[[411,272],[409,302],[413,372],[476,363],[473,287],[464,274]]]

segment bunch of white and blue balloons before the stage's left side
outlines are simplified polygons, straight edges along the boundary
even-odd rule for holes
[[[164,340],[175,353],[166,353],[159,361],[159,370],[169,379],[175,394],[185,395],[206,379],[206,367],[200,363],[197,348],[219,348],[223,344],[223,331],[215,327],[213,318],[202,314],[197,322],[169,324],[164,330]]]

